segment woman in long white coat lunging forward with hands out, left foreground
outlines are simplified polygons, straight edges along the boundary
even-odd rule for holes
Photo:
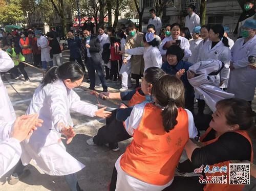
[[[27,110],[27,114],[38,113],[44,123],[29,140],[22,143],[21,159],[24,165],[34,159],[46,174],[65,176],[72,191],[80,190],[75,173],[83,169],[84,165],[66,151],[60,140],[61,134],[64,134],[69,144],[75,136],[70,110],[91,117],[108,117],[111,114],[104,111],[106,107],[98,110],[97,106],[81,101],[72,90],[81,85],[83,76],[84,71],[75,62],[52,67],[46,73]],[[22,167],[16,167],[11,179],[18,180]]]

